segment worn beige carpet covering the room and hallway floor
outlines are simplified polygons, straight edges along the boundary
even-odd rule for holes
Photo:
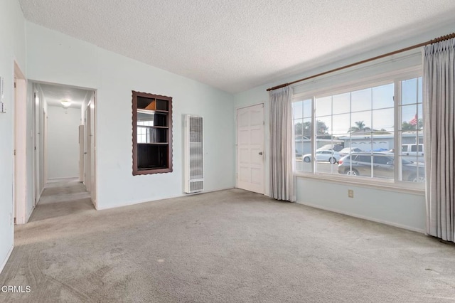
[[[455,245],[232,189],[95,211],[51,184],[0,302],[455,302]],[[397,201],[400,203],[400,201]]]

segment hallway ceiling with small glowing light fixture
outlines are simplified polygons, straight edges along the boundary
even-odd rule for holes
[[[43,91],[45,101],[48,106],[62,106],[60,101],[68,100],[71,102],[71,108],[80,108],[85,100],[85,97],[89,97],[92,91],[81,90],[79,88],[68,87],[63,85],[50,85],[50,84],[38,84]],[[89,95],[87,95],[89,94]]]

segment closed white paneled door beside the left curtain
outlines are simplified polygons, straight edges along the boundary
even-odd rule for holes
[[[264,105],[237,110],[237,188],[264,193]]]

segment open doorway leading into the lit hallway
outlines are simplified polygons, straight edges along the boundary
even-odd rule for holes
[[[35,117],[37,192],[75,180],[96,207],[95,90],[39,82],[34,88],[42,113]]]

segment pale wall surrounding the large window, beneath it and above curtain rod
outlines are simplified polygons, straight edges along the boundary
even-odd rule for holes
[[[412,46],[423,41],[428,41],[438,36],[443,36],[453,31],[455,24],[432,29],[420,36],[403,39],[400,43],[391,46],[375,49],[369,53],[355,55],[338,62],[321,65],[318,68],[308,70],[306,73],[294,75],[288,78],[280,78],[272,83],[255,87],[252,90],[240,92],[235,97],[235,109],[254,105],[260,102],[265,103],[266,111],[266,153],[269,154],[269,93],[267,88],[282,83],[289,83],[294,80],[316,75],[318,73],[338,68],[343,65],[373,58],[376,55],[388,53],[393,50]],[[311,84],[306,85],[309,90]],[[266,155],[267,155],[266,154]],[[269,188],[269,159],[266,156],[266,191]],[[383,191],[378,188],[355,186],[355,184],[337,184],[333,181],[322,179],[310,179],[297,177],[297,201],[317,208],[324,208],[339,213],[346,213],[350,216],[368,218],[370,220],[396,225],[410,230],[423,232],[425,222],[425,200],[424,195],[400,191]],[[348,189],[354,190],[355,198],[348,198]]]

